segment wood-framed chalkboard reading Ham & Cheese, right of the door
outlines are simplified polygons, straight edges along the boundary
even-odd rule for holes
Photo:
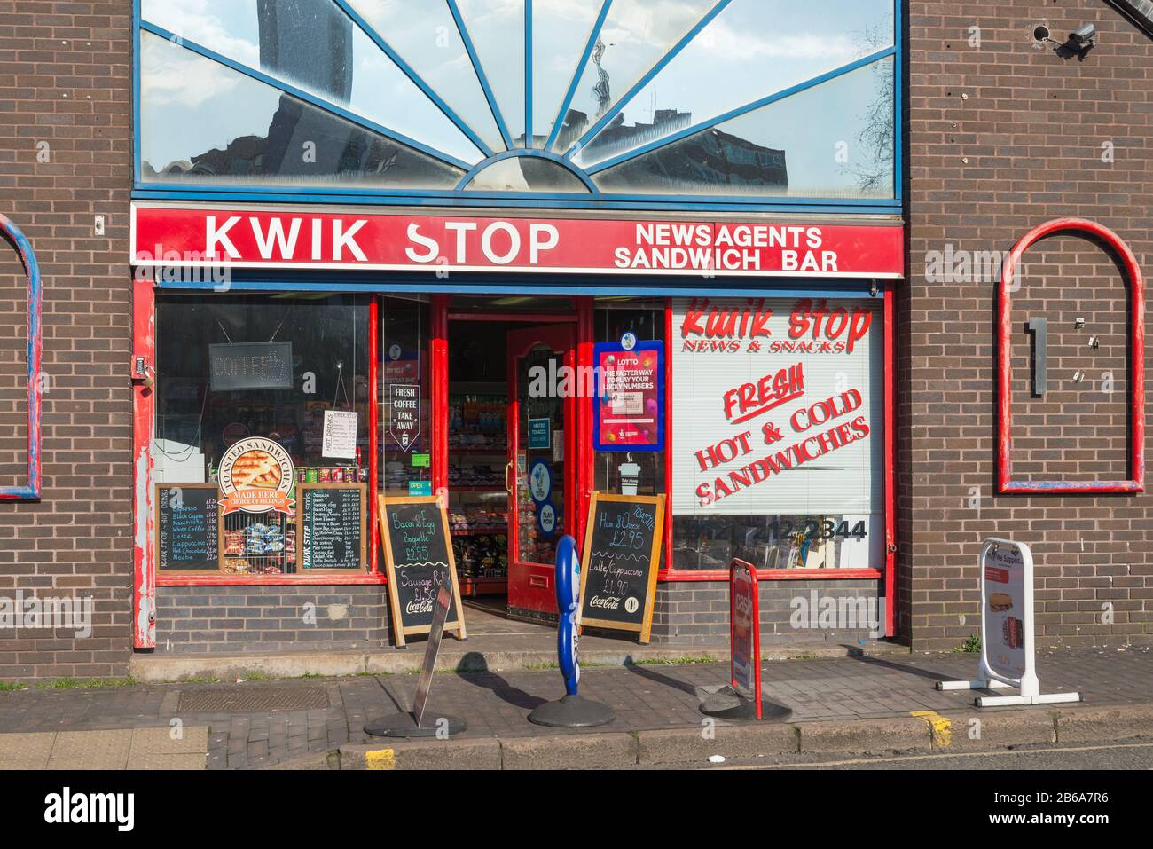
[[[663,528],[663,495],[593,493],[578,624],[636,631],[649,641]]]

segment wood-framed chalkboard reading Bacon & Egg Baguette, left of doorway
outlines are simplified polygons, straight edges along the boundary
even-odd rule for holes
[[[397,645],[405,637],[429,633],[437,591],[447,585],[453,608],[445,630],[465,639],[465,617],[457,583],[457,562],[449,536],[449,516],[436,496],[377,498],[380,544],[389,578],[389,603]]]

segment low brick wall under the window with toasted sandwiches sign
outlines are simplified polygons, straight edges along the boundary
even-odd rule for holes
[[[303,652],[389,645],[384,587],[159,587],[163,652]]]

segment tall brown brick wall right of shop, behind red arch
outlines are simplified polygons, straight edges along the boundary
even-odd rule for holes
[[[1057,55],[1034,44],[1039,23],[1062,42],[1083,23],[1094,23],[1100,42],[1083,60]],[[974,25],[979,46],[970,43]],[[944,283],[929,276],[932,251],[949,245],[1008,250],[1034,225],[1062,216],[1113,228],[1148,276],[1153,40],[1091,0],[912,0],[907,28],[910,279],[898,311],[899,629],[920,649],[950,648],[975,633],[977,556],[980,541],[996,534],[1033,549],[1040,645],[1148,644],[1153,496],[996,495],[997,271]],[[1103,156],[1110,151],[1111,161]],[[1030,396],[1024,323],[1032,317],[1046,317],[1049,328],[1043,399]],[[1077,317],[1086,320],[1085,330],[1075,329]],[[1019,476],[1124,476],[1125,325],[1122,277],[1098,246],[1062,236],[1026,254],[1012,298]],[[1090,336],[1100,337],[1095,352]],[[1077,370],[1086,373],[1079,384]],[[1102,617],[1103,606],[1113,607],[1111,622]]]

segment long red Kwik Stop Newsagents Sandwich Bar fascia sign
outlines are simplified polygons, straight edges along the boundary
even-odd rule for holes
[[[331,208],[330,208],[331,209]],[[500,218],[133,204],[141,266],[899,278],[892,224]]]

